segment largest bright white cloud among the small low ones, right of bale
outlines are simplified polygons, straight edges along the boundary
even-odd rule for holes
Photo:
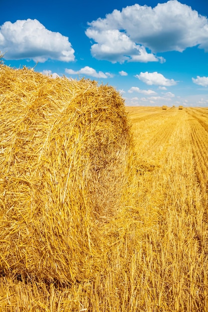
[[[147,85],[159,85],[159,86],[174,86],[177,82],[174,79],[167,79],[158,72],[141,72],[139,75],[135,75],[136,78],[140,79]]]

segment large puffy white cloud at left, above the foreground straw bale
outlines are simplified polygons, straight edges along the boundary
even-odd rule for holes
[[[74,49],[68,37],[45,28],[37,19],[4,22],[0,26],[0,51],[5,59],[55,59],[74,61]]]

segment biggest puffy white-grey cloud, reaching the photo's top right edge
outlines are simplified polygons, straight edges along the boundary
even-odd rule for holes
[[[170,0],[157,6],[134,4],[88,23],[91,53],[111,62],[164,62],[154,53],[184,51],[199,45],[208,51],[208,19],[191,6]],[[147,48],[151,53],[147,52]]]

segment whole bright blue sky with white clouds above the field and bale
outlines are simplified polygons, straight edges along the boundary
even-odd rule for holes
[[[0,0],[4,63],[114,86],[126,105],[208,107],[207,0]]]

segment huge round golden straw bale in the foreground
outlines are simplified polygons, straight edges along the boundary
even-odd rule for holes
[[[99,217],[122,205],[131,142],[113,87],[0,64],[0,271],[93,276]]]

